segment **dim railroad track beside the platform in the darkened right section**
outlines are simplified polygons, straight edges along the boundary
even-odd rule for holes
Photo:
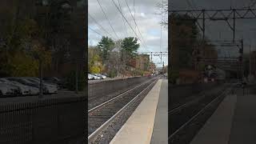
[[[197,106],[195,106],[195,110],[192,110],[191,106],[188,106],[189,103],[186,103],[182,106],[178,106],[176,108],[174,108],[173,110],[168,111],[168,115],[172,115],[171,117],[176,117],[178,115],[182,115],[182,118],[185,119],[178,119],[176,120],[177,122],[181,122],[178,123],[178,128],[173,128],[171,127],[172,130],[170,130],[170,135],[169,135],[169,142],[171,142],[175,137],[177,137],[178,134],[184,134],[184,131],[186,131],[186,126],[189,126],[191,122],[193,122],[196,118],[198,118],[199,115],[203,114],[210,106],[213,105],[214,102],[218,102],[218,100],[220,100],[220,98],[224,98],[223,96],[225,94],[230,93],[230,91],[232,90],[232,86],[228,87],[226,90],[223,90],[222,93],[218,94],[217,96],[212,96],[212,98],[210,98],[209,100],[197,100],[198,104],[196,104]],[[196,111],[196,112],[195,112]],[[176,114],[175,114],[176,113]],[[183,113],[183,114],[182,114]],[[187,116],[189,115],[189,116]],[[176,125],[175,122],[173,122],[174,125]],[[178,138],[179,139],[179,138]]]

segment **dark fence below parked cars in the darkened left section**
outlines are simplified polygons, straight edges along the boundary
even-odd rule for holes
[[[82,144],[86,98],[24,98],[0,103],[1,144]]]

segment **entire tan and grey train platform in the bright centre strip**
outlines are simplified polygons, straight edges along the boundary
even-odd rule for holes
[[[166,79],[158,80],[110,144],[167,143],[167,88]]]

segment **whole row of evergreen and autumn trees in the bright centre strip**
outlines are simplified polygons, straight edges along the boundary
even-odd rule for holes
[[[139,46],[138,38],[128,37],[114,41],[103,36],[97,46],[88,47],[89,72],[102,73],[110,77],[146,74],[146,69],[134,68],[136,58],[142,56],[138,54]]]

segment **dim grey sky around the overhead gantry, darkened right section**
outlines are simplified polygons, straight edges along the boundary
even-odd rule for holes
[[[255,0],[173,0],[169,1],[170,10],[195,10],[195,9],[230,9],[232,8],[243,8],[256,2]],[[256,8],[256,5],[251,8]],[[243,38],[245,43],[245,52],[248,53],[250,50],[256,50],[256,19],[238,19],[236,20],[236,39]],[[232,20],[230,24],[233,25]],[[232,40],[232,30],[226,24],[226,22],[218,21],[206,21],[206,37],[210,40]],[[234,47],[230,48],[219,48],[220,55],[228,54],[237,55],[238,50]]]

